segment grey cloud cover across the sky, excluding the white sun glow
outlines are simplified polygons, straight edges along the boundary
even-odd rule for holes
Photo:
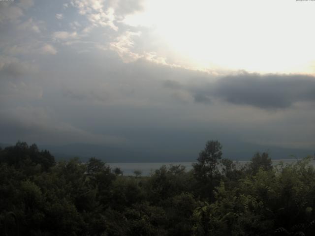
[[[12,15],[0,2],[1,142],[311,147],[312,76],[185,69],[155,29],[124,23],[142,0],[18,2],[6,4]]]

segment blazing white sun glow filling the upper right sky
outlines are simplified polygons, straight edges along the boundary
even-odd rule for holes
[[[154,29],[157,52],[200,69],[314,74],[314,12],[315,1],[147,0],[125,23]]]

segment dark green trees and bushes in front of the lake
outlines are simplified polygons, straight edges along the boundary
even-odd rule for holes
[[[125,177],[96,158],[56,163],[36,145],[0,148],[0,235],[315,235],[311,157],[273,167],[256,153],[239,166],[221,149],[207,142],[189,172]]]

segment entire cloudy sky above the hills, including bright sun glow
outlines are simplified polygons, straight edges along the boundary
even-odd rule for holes
[[[314,153],[314,11],[298,0],[0,0],[0,143]]]

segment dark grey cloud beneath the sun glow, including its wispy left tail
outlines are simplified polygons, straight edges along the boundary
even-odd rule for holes
[[[315,102],[315,77],[303,74],[241,72],[195,84],[168,80],[163,85],[189,91],[195,102],[204,104],[210,104],[213,98],[234,105],[275,110],[290,108],[299,102]]]

